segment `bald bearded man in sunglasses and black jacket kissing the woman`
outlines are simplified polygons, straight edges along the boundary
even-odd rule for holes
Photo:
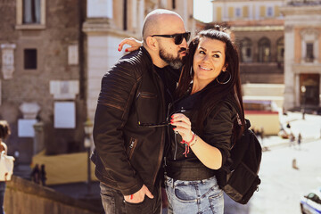
[[[106,213],[161,213],[167,106],[189,37],[176,12],[155,10],[144,20],[143,46],[103,76],[91,160]]]

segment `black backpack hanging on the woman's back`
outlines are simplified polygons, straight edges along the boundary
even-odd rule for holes
[[[218,185],[235,202],[246,204],[259,189],[259,165],[262,148],[258,138],[249,129],[251,123],[245,119],[243,136],[231,149],[226,164],[218,169]]]

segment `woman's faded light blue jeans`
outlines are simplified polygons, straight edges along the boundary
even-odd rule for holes
[[[223,214],[223,191],[216,177],[198,181],[181,181],[165,177],[165,188],[169,198],[168,213]]]

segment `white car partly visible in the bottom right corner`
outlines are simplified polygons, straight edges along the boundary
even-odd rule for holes
[[[321,188],[301,198],[300,210],[303,214],[321,214]]]

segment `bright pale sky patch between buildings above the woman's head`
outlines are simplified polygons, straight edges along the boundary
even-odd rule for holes
[[[193,16],[196,20],[212,21],[212,4],[210,0],[193,0]]]

